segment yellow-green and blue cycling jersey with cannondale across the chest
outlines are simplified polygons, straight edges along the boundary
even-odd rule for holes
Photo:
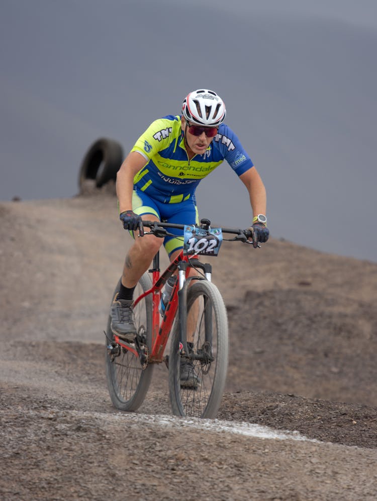
[[[131,151],[141,153],[147,162],[134,178],[136,190],[162,203],[179,203],[190,198],[195,201],[200,181],[224,159],[238,176],[253,166],[238,137],[225,124],[219,126],[205,153],[190,160],[179,115],[155,120]]]

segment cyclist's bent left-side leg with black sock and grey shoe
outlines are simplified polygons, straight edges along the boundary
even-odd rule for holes
[[[159,220],[152,214],[147,214],[143,218],[149,221]],[[113,333],[131,342],[136,337],[136,328],[132,320],[133,292],[139,279],[148,270],[153,257],[163,243],[162,238],[154,235],[139,237],[138,231],[134,233],[135,242],[126,255],[120,291],[114,298],[111,307],[111,329]]]

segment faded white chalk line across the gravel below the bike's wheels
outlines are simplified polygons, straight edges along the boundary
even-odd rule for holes
[[[208,420],[199,418],[178,418],[166,414],[142,414],[133,412],[91,412],[70,409],[57,409],[49,407],[43,410],[22,410],[23,415],[33,414],[35,416],[42,416],[44,418],[66,417],[71,415],[73,418],[88,420],[90,418],[98,419],[104,422],[117,422],[127,421],[127,426],[139,426],[141,423],[149,426],[158,426],[164,429],[182,430],[192,429],[201,430],[211,433],[231,433],[234,435],[243,435],[246,437],[254,437],[260,439],[273,439],[273,440],[295,440],[321,443],[315,439],[309,439],[301,435],[298,431],[278,431],[267,426],[256,425],[252,423],[244,423],[238,421],[223,421],[223,420]],[[6,410],[0,410],[0,415],[7,414]],[[12,411],[14,413],[14,410]]]

